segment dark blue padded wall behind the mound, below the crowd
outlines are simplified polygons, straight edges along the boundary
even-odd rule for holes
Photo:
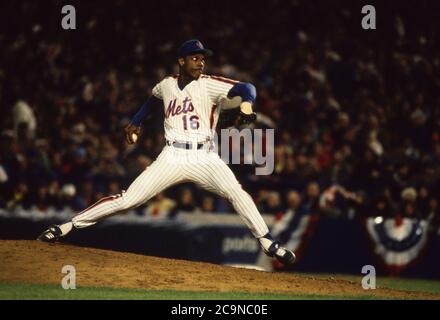
[[[277,228],[273,217],[264,218],[272,230]],[[35,239],[48,225],[67,219],[69,215],[66,213],[11,215],[3,211],[0,212],[0,239]],[[389,268],[375,253],[365,221],[319,218],[307,226],[302,233],[298,232],[301,228],[296,227],[293,231],[298,233],[294,237],[296,242],[288,242],[289,245],[296,243],[295,252],[298,254],[298,262],[289,271],[360,275],[364,265],[373,265],[378,275],[440,279],[438,232],[430,234],[417,258],[405,268],[396,270]],[[286,233],[280,233],[280,237],[285,238]],[[262,254],[258,243],[236,215],[182,213],[174,219],[151,219],[128,214],[77,230],[64,241],[81,246],[265,270],[279,267]]]

